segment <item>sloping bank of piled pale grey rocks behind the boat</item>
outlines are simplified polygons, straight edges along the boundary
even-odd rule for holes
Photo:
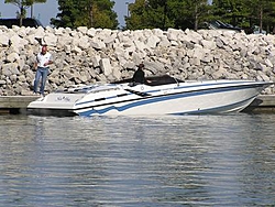
[[[47,91],[129,78],[142,62],[146,76],[168,73],[180,79],[275,80],[274,35],[0,26],[0,96],[32,94],[40,39],[54,56]],[[264,94],[275,94],[275,89]]]

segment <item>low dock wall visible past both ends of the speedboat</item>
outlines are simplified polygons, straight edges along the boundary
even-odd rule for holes
[[[0,115],[26,113],[26,107],[38,96],[0,96]],[[275,95],[260,95],[243,112],[275,113]]]

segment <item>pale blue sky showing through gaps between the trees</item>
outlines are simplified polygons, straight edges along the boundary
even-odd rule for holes
[[[112,0],[114,1],[113,10],[118,13],[118,20],[120,26],[125,25],[124,15],[128,14],[128,3],[133,3],[135,0]],[[18,7],[11,3],[4,3],[4,0],[0,0],[0,13],[1,18],[15,18]],[[28,9],[26,17],[30,18],[31,10]],[[33,14],[41,21],[44,26],[50,25],[51,18],[56,18],[58,13],[57,0],[47,0],[46,3],[35,3],[33,7]]]

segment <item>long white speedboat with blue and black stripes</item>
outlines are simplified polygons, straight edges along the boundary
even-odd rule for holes
[[[274,84],[243,79],[184,81],[168,75],[146,79],[146,84],[125,79],[65,88],[32,101],[28,110],[85,117],[227,113],[243,110]]]

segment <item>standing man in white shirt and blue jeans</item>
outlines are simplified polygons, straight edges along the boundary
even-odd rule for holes
[[[46,85],[46,78],[50,73],[50,65],[53,64],[52,54],[47,52],[47,46],[43,45],[41,53],[36,56],[34,68],[36,69],[34,79],[34,94],[37,94],[37,86],[41,80],[40,95],[44,96],[44,89]]]

